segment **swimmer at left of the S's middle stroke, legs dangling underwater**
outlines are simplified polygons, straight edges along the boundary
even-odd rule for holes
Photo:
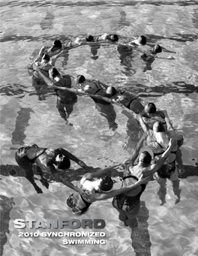
[[[58,87],[64,87],[71,89],[71,77],[69,75],[62,75],[58,72],[56,68],[49,69],[49,78],[52,80],[52,83]],[[67,125],[71,125],[71,122],[68,121],[71,112],[73,111],[74,104],[77,102],[77,95],[74,92],[63,91],[60,89],[55,89],[57,95],[57,104],[56,107],[62,119],[65,120]]]

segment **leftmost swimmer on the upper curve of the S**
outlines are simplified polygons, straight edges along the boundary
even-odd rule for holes
[[[35,83],[43,85],[45,82],[42,77],[40,77],[37,68],[44,76],[49,77],[48,71],[52,68],[52,63],[50,62],[50,57],[47,53],[43,54],[43,56],[39,56],[33,63],[34,74],[32,79]]]

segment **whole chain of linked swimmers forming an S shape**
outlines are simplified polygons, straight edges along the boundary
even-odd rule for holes
[[[47,84],[55,90],[57,95],[57,109],[62,119],[67,125],[73,125],[68,118],[77,102],[77,95],[89,95],[95,101],[98,110],[106,116],[110,129],[115,130],[116,113],[113,104],[118,104],[135,118],[143,130],[142,138],[137,143],[130,159],[121,164],[115,164],[105,169],[92,170],[83,161],[72,155],[63,148],[42,148],[34,143],[25,144],[17,150],[15,158],[17,164],[26,172],[26,178],[34,186],[37,193],[42,190],[34,182],[34,167],[40,174],[40,182],[46,188],[49,187],[47,176],[51,176],[58,182],[62,182],[74,193],[68,197],[67,204],[71,207],[71,212],[82,215],[89,210],[92,203],[97,200],[113,198],[113,207],[118,210],[118,218],[124,222],[125,226],[136,227],[136,215],[139,212],[139,199],[145,190],[150,179],[156,179],[159,183],[157,194],[160,198],[160,205],[166,203],[166,179],[172,182],[175,194],[175,203],[180,201],[178,170],[184,171],[181,160],[180,146],[183,144],[181,134],[176,134],[166,110],[157,110],[154,103],[145,104],[141,99],[136,98],[130,92],[123,89],[115,89],[107,86],[99,80],[88,80],[82,74],[73,77],[77,89],[71,88],[70,75],[62,75],[54,67],[55,60],[61,56],[65,50],[89,44],[91,47],[96,44],[110,43],[118,44],[127,49],[133,48],[142,52],[142,59],[145,61],[157,57],[157,53],[162,52],[160,45],[154,45],[150,50],[143,51],[139,46],[146,44],[145,36],[134,38],[133,41],[124,41],[118,35],[104,34],[86,38],[77,38],[74,41],[62,43],[55,40],[51,47],[42,47],[34,61],[28,65],[28,69],[33,74],[33,82],[42,86]],[[141,47],[140,47],[141,48]],[[160,58],[160,57],[158,57]],[[164,57],[162,57],[164,59]],[[169,57],[167,59],[174,59]],[[139,154],[144,141],[153,153],[143,151]],[[77,185],[69,182],[62,175],[64,170],[71,166],[71,161],[75,161],[83,167],[87,173],[77,182]],[[178,165],[176,165],[176,162]],[[107,171],[116,169],[118,166],[124,167],[124,177],[121,188],[113,188],[113,179],[107,175]]]

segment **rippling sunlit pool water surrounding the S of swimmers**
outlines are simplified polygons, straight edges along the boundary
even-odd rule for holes
[[[53,90],[35,88],[26,68],[40,48],[50,46],[55,38],[64,41],[104,32],[127,38],[146,35],[149,42],[176,52],[164,51],[160,56],[171,54],[175,60],[155,59],[148,64],[136,50],[124,53],[115,45],[104,44],[94,52],[89,45],[74,48],[55,66],[66,74],[84,74],[108,85],[127,87],[143,100],[165,108],[174,127],[184,135],[184,165],[197,166],[198,3],[170,0],[1,1],[2,165],[16,165],[16,149],[28,142],[65,147],[93,167],[119,163],[130,155],[142,131],[120,107],[115,106],[118,128],[110,131],[92,99],[79,97],[70,117],[74,126],[65,125],[55,107]],[[68,176],[77,168],[73,163]],[[74,182],[77,179],[78,174]],[[65,203],[69,188],[53,183],[49,189],[42,186],[43,194],[37,194],[24,177],[1,175],[1,194],[13,197],[15,203],[3,255],[198,255],[197,184],[197,176],[181,179],[181,202],[175,205],[168,182],[167,203],[159,206],[157,183],[149,182],[142,194],[139,227],[133,230],[118,220],[111,200],[94,203],[82,218],[103,218],[106,227],[100,231],[107,234],[107,243],[75,246],[64,245],[62,237],[18,237],[13,227],[15,218],[74,218]],[[26,227],[23,231],[32,230]]]

